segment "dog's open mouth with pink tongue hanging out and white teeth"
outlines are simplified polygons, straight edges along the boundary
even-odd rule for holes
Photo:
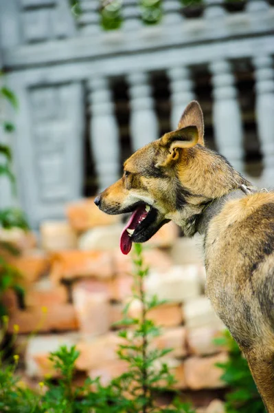
[[[159,222],[157,209],[148,204],[141,204],[133,211],[128,223],[124,227],[120,237],[120,248],[123,254],[127,255],[133,242],[145,242],[154,235],[165,222]]]

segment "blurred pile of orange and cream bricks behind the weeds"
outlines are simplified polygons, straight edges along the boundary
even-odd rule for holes
[[[0,240],[21,251],[19,256],[6,251],[0,255],[22,275],[24,299],[8,290],[4,304],[10,313],[9,331],[19,330],[18,351],[29,379],[54,374],[47,357],[63,344],[75,344],[80,351],[79,377],[100,376],[106,384],[126,369],[117,358],[119,338],[113,327],[122,319],[133,284],[130,256],[119,251],[122,227],[119,216],[105,215],[88,199],[69,204],[67,221],[41,225],[39,249],[32,233],[0,232]],[[150,318],[163,326],[153,346],[174,349],[167,362],[176,388],[194,402],[200,398],[209,403],[224,388],[215,364],[227,360],[227,352],[213,342],[224,327],[204,295],[205,271],[196,244],[195,239],[179,237],[174,224],[163,226],[144,251],[150,266],[146,290],[168,300],[152,310]],[[140,303],[133,301],[130,315],[140,311]],[[213,406],[206,411],[222,411],[218,403]]]

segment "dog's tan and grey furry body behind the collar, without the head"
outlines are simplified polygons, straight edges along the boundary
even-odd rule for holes
[[[205,265],[216,313],[244,351],[264,400],[269,392],[274,401],[273,192],[225,204],[207,230]]]

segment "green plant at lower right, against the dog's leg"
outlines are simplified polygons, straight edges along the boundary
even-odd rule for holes
[[[230,391],[226,395],[227,413],[263,413],[264,403],[251,376],[247,360],[244,359],[236,341],[228,331],[223,337],[215,340],[216,343],[229,348],[229,360],[218,363],[222,368],[222,380],[229,385]]]

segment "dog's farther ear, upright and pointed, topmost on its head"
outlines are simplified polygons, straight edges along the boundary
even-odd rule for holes
[[[203,112],[201,106],[198,104],[198,102],[196,102],[196,100],[192,100],[192,102],[187,105],[181,116],[181,119],[179,120],[178,129],[182,129],[183,127],[187,126],[196,126],[196,128],[198,129],[198,143],[204,146],[205,142],[203,140]]]

